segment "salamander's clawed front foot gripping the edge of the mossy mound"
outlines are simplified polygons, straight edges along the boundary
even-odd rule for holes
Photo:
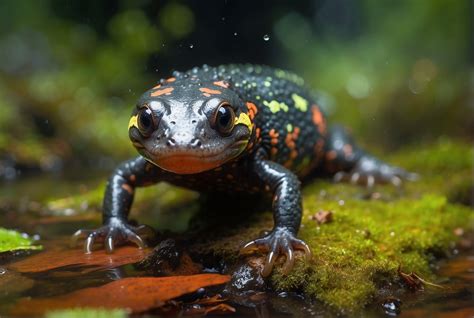
[[[271,231],[265,237],[253,240],[245,244],[240,250],[241,254],[262,250],[268,252],[265,264],[262,269],[262,276],[267,277],[271,274],[275,262],[280,255],[285,255],[286,261],[283,264],[282,273],[287,275],[295,264],[294,250],[299,249],[305,252],[305,259],[311,259],[311,250],[309,246],[295,238],[295,236],[286,228],[277,228]]]

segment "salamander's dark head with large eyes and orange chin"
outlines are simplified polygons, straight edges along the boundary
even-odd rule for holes
[[[172,78],[142,95],[132,112],[129,137],[158,167],[193,174],[239,156],[252,129],[244,101],[227,83]]]

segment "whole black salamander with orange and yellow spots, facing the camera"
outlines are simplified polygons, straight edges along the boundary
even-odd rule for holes
[[[145,92],[132,112],[129,137],[140,156],[121,164],[107,184],[103,226],[79,230],[85,251],[103,242],[108,252],[127,241],[144,247],[145,226],[128,224],[135,189],[169,182],[198,191],[267,193],[274,227],[247,243],[243,252],[267,252],[263,276],[279,255],[283,272],[294,264],[301,223],[300,180],[322,173],[366,184],[414,174],[385,164],[361,150],[339,127],[328,128],[303,80],[258,65],[223,65],[174,72]]]

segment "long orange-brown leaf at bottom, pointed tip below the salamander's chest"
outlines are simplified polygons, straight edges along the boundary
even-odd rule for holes
[[[130,277],[100,287],[81,289],[52,298],[23,298],[12,315],[40,315],[65,308],[123,308],[139,313],[163,306],[166,301],[195,292],[201,287],[228,282],[230,276],[200,274],[171,277]]]

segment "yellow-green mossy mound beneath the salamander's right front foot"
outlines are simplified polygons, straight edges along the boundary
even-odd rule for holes
[[[385,158],[418,172],[421,179],[402,189],[379,186],[377,192],[316,180],[304,188],[304,215],[299,237],[313,251],[311,262],[298,261],[284,276],[278,267],[270,277],[276,290],[297,290],[337,311],[353,312],[368,304],[377,291],[399,281],[398,269],[435,279],[430,267],[459,239],[457,228],[469,231],[472,207],[454,202],[456,189],[472,187],[472,149],[462,142],[440,140]],[[331,211],[332,221],[319,224],[312,217]],[[235,261],[242,243],[271,226],[271,214],[214,231],[192,246],[201,253]],[[215,239],[216,237],[219,237]],[[283,261],[283,260],[281,260]]]

